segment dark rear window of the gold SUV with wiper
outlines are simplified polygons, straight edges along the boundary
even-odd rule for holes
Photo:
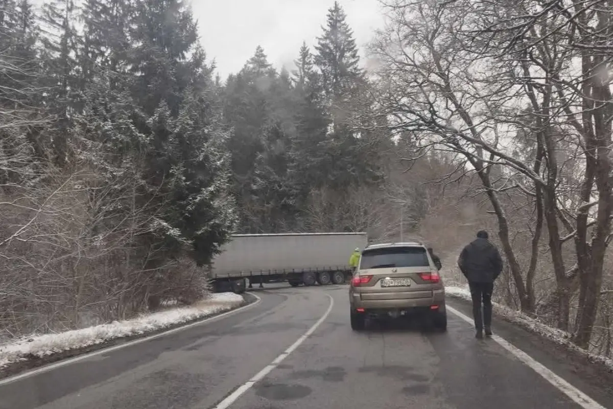
[[[430,262],[423,247],[373,248],[362,253],[360,270],[391,267],[430,267]]]

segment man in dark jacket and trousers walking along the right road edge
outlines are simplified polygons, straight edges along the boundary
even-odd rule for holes
[[[470,295],[473,299],[474,327],[476,337],[483,338],[492,335],[492,292],[494,281],[502,272],[502,259],[498,249],[489,242],[486,231],[477,233],[477,239],[466,245],[460,258],[458,267],[468,280]],[[481,302],[483,302],[483,314],[481,314]]]

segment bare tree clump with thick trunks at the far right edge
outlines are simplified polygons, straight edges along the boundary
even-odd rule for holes
[[[482,9],[494,11],[485,4]],[[613,8],[598,1],[522,1],[501,9],[490,14],[481,32],[501,46],[503,61],[517,66],[517,83],[535,113],[536,142],[546,162],[544,183],[537,187],[544,193],[560,308],[569,312],[570,278],[578,272],[574,341],[586,347],[597,316],[613,211],[611,53],[603,52],[613,39]],[[565,151],[563,156],[579,162],[574,169],[560,157]],[[569,239],[576,253],[570,274],[562,254],[562,243]]]

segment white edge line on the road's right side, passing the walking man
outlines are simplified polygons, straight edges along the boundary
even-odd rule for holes
[[[447,310],[454,313],[454,315],[459,316],[467,323],[474,326],[474,320],[467,315],[459,312],[455,308],[449,307],[447,305]],[[573,402],[577,403],[584,409],[606,409],[603,405],[593,400],[591,397],[587,396],[583,392],[579,391],[579,389],[575,388],[573,385],[569,384],[562,378],[558,377],[554,372],[547,369],[543,364],[536,361],[533,357],[525,353],[524,351],[516,348],[516,346],[511,345],[508,341],[504,340],[504,338],[499,337],[498,335],[492,335],[492,340],[498,343],[498,345],[502,346],[505,350],[509,351],[513,354],[519,361],[528,365],[531,369],[533,369],[536,373],[541,375],[546,381],[550,384],[554,385],[560,392],[568,396]]]

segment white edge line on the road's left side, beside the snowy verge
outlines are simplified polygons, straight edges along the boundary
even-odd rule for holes
[[[0,380],[0,386],[2,386],[4,384],[7,384],[7,383],[13,383],[13,382],[21,380],[23,378],[31,377],[32,375],[36,375],[38,373],[48,372],[51,369],[55,369],[55,368],[63,367],[63,366],[66,366],[66,365],[74,364],[75,362],[83,361],[83,359],[88,359],[88,358],[91,358],[91,357],[96,356],[96,355],[105,354],[105,353],[109,353],[111,351],[120,350],[121,348],[125,348],[126,346],[136,345],[136,344],[141,343],[141,342],[150,341],[150,340],[153,340],[153,339],[159,338],[159,337],[164,337],[166,335],[174,334],[175,332],[183,331],[184,329],[188,329],[188,328],[191,328],[191,327],[195,327],[195,326],[199,326],[199,325],[204,325],[204,324],[210,324],[210,323],[213,323],[215,321],[218,321],[221,318],[225,318],[226,316],[229,316],[229,315],[235,314],[235,313],[237,313],[239,311],[245,310],[246,308],[255,307],[262,300],[260,297],[256,296],[256,294],[253,294],[253,292],[249,292],[248,294],[251,294],[251,296],[256,297],[256,301],[252,302],[251,304],[243,305],[243,307],[238,307],[238,308],[235,308],[234,310],[230,310],[228,312],[225,312],[225,313],[222,313],[222,314],[219,314],[219,315],[216,315],[216,316],[212,316],[211,318],[201,319],[200,321],[196,321],[195,323],[191,323],[191,324],[187,324],[187,325],[180,326],[180,327],[177,327],[177,328],[169,329],[168,331],[160,332],[159,334],[155,334],[155,335],[150,335],[149,337],[137,338],[137,339],[132,340],[132,341],[121,343],[120,345],[109,346],[109,348],[102,348],[101,350],[97,350],[97,351],[93,351],[93,352],[90,352],[90,353],[87,353],[87,354],[75,356],[73,358],[64,359],[62,361],[56,362],[55,364],[46,365],[46,366],[41,367],[39,369],[34,369],[34,370],[31,370],[31,371],[28,371],[28,372],[20,373],[19,375],[15,375],[13,377],[4,378],[4,379]]]

